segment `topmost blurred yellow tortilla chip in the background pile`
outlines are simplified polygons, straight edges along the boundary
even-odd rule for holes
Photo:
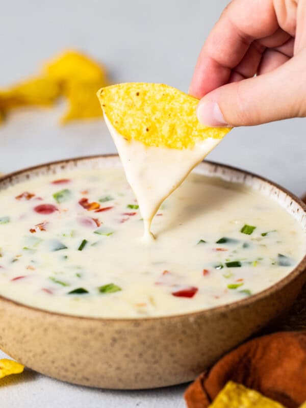
[[[103,66],[76,51],[67,51],[48,62],[44,68],[49,78],[61,84],[67,81],[98,82],[103,81],[106,72]]]

